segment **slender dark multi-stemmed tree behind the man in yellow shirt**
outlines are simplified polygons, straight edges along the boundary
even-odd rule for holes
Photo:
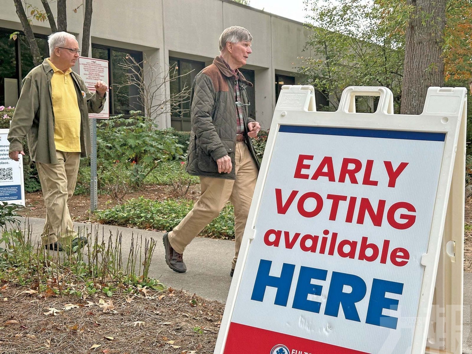
[[[25,7],[23,7],[22,0],[13,0],[15,3],[16,12],[18,18],[20,19],[21,26],[23,27],[23,32],[25,33],[26,40],[28,41],[28,45],[30,47],[34,65],[39,65],[42,63],[42,57],[38,48],[38,43],[34,38],[34,33],[31,28],[31,24],[33,19],[44,22],[48,21],[51,27],[51,33],[54,32],[67,32],[67,5],[66,0],[57,0],[57,25],[54,19],[54,15],[52,14],[51,7],[49,6],[49,2],[51,0],[41,0],[43,9],[38,8],[28,2],[25,1]],[[93,0],[85,0],[85,8],[84,8],[84,28],[82,32],[82,55],[87,57],[88,50],[90,46],[90,25],[92,23],[92,1]],[[51,1],[52,2],[52,1]],[[76,13],[77,10],[82,6],[80,4],[73,11]],[[27,15],[29,13],[29,15]],[[16,38],[16,34],[12,34],[13,38]]]

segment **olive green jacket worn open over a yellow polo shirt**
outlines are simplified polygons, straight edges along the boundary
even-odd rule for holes
[[[46,59],[34,67],[23,79],[20,98],[10,123],[8,141],[9,152],[23,151],[22,141],[27,136],[30,157],[35,162],[59,163],[54,143],[54,111],[51,99],[51,77],[54,74]],[[90,124],[88,113],[100,113],[105,97],[91,93],[84,80],[71,72],[77,93],[80,110],[80,149],[81,155],[91,152]]]

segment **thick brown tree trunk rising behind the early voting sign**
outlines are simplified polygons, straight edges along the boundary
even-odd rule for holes
[[[444,84],[442,40],[446,0],[407,0],[413,12],[406,28],[402,114],[421,114],[430,86]]]

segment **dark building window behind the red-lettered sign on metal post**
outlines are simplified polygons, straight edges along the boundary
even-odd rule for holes
[[[92,44],[92,58],[108,60],[108,75],[111,92],[108,102],[111,115],[129,115],[130,110],[144,110],[136,86],[129,85],[118,87],[118,85],[126,84],[126,69],[119,65],[126,60],[126,55],[130,55],[136,63],[143,62],[143,52],[141,51],[130,51]],[[139,70],[140,69],[136,71]]]

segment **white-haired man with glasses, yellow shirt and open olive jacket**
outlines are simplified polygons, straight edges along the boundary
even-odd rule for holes
[[[57,32],[48,37],[50,58],[34,67],[22,82],[20,98],[8,133],[9,156],[18,161],[27,136],[46,204],[44,247],[76,250],[86,243],[73,230],[67,200],[74,194],[80,156],[91,152],[88,113],[103,110],[107,85],[98,81],[90,93],[70,68],[80,50],[76,37]]]

